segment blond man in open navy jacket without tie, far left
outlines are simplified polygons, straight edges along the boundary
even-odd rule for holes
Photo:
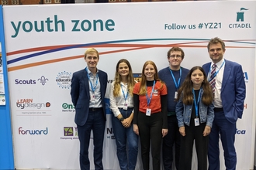
[[[94,164],[102,170],[102,148],[106,126],[105,93],[107,73],[97,69],[99,53],[90,48],[85,51],[85,69],[75,72],[71,80],[71,99],[75,107],[74,122],[78,126],[80,141],[80,168],[90,169],[88,147],[93,132]]]

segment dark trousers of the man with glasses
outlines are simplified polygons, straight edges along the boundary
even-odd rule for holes
[[[163,138],[162,153],[164,169],[171,170],[173,162],[173,145],[175,144],[175,167],[178,170],[181,134],[178,131],[176,115],[168,116],[168,134]]]

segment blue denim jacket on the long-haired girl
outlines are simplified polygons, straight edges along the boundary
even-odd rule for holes
[[[206,126],[209,126],[212,128],[213,125],[213,119],[214,119],[214,105],[213,103],[209,106],[206,106],[202,103],[202,93],[203,90],[201,89],[200,93],[200,102],[199,102],[199,117],[200,117],[200,123],[205,123]],[[192,105],[185,105],[182,102],[183,93],[178,100],[178,103],[176,104],[176,116],[178,119],[178,127],[184,126],[184,124],[188,125],[190,124],[190,118],[192,113]]]

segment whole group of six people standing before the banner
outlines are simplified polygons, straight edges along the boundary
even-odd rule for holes
[[[207,48],[212,61],[188,70],[181,66],[183,50],[172,47],[167,55],[169,66],[158,72],[155,63],[147,61],[140,82],[133,79],[127,59],[116,64],[109,100],[121,170],[136,168],[138,138],[144,170],[150,169],[150,153],[154,170],[161,169],[161,153],[164,169],[172,169],[174,145],[176,169],[191,169],[194,141],[198,169],[218,170],[219,140],[226,168],[236,169],[234,141],[237,118],[242,117],[244,110],[244,73],[240,64],[223,58],[226,50],[223,40],[213,38]],[[97,69],[96,49],[86,50],[85,62],[85,69],[73,74],[71,100],[76,110],[81,170],[90,169],[91,131],[95,169],[99,170],[103,169],[108,76]]]

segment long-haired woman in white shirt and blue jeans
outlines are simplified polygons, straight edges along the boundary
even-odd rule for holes
[[[127,59],[116,64],[115,80],[109,98],[112,110],[112,128],[116,138],[116,155],[121,170],[133,170],[138,154],[138,136],[133,132],[133,71]],[[127,150],[126,150],[127,148]]]

